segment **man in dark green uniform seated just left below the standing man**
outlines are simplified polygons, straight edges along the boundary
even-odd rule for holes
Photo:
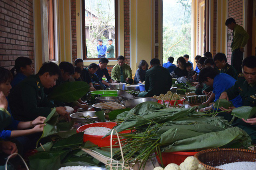
[[[214,55],[213,61],[218,69],[220,69],[220,73],[226,73],[237,80],[238,74],[236,69],[227,63],[227,57],[224,53],[217,53]]]

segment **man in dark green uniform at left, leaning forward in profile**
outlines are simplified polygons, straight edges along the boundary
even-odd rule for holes
[[[48,101],[44,88],[51,88],[61,75],[57,64],[46,62],[38,74],[31,75],[12,89],[9,95],[10,109],[15,120],[32,121],[38,116],[47,117],[56,107],[56,112],[71,121],[65,107],[58,107]]]

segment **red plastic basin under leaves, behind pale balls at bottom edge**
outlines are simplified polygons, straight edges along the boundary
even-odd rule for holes
[[[188,156],[194,156],[197,152],[162,152],[162,160],[164,166],[167,166],[170,163],[180,165]],[[160,158],[158,155],[156,159],[159,164],[161,164]]]

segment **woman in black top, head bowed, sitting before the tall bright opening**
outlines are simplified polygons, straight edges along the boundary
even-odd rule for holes
[[[172,78],[176,78],[179,83],[182,83],[183,81],[181,80],[181,77],[187,77],[188,76],[188,71],[186,70],[185,64],[186,60],[184,57],[178,57],[177,59],[177,64],[178,67],[176,67],[172,73],[171,76]]]

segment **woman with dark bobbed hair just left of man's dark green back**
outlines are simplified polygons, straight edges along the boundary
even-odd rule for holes
[[[145,81],[146,71],[148,70],[148,63],[144,59],[140,61],[138,69],[135,73],[134,84],[142,83]]]

